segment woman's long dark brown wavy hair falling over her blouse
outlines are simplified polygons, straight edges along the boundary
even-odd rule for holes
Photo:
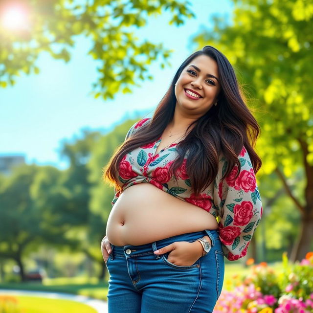
[[[250,156],[254,172],[256,173],[260,169],[262,161],[253,149],[260,133],[260,127],[245,104],[233,67],[224,54],[207,45],[202,50],[191,54],[181,64],[169,89],[157,105],[151,120],[126,140],[111,157],[109,164],[104,169],[103,177],[112,182],[117,190],[120,190],[116,175],[119,172],[121,159],[135,148],[156,141],[160,137],[174,116],[175,83],[182,70],[195,57],[203,54],[215,60],[218,65],[221,84],[218,105],[213,105],[208,112],[189,125],[187,132],[193,124],[196,124],[176,146],[178,156],[169,171],[176,173],[188,151],[186,172],[191,180],[193,192],[199,195],[215,179],[221,154],[227,160],[227,168],[222,179],[230,173],[235,165],[238,167],[237,176],[239,175],[238,155],[243,146]]]

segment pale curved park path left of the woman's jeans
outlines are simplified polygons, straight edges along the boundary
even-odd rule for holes
[[[43,297],[50,299],[65,299],[72,300],[76,302],[81,302],[89,307],[94,308],[98,313],[108,313],[107,302],[92,299],[83,295],[75,295],[61,292],[45,292],[45,291],[29,291],[29,290],[9,290],[9,289],[0,289],[0,295],[29,295],[34,297]]]

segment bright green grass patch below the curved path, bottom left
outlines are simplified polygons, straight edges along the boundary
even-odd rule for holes
[[[28,297],[28,296],[9,296],[9,298],[17,300],[17,308],[21,313],[97,313],[96,310],[86,304],[78,303],[70,300],[48,299],[41,297]],[[9,300],[7,300],[9,304]],[[11,303],[12,304],[12,303]],[[1,310],[1,307],[0,307]],[[1,311],[2,312],[2,311]],[[6,311],[4,311],[6,312]]]

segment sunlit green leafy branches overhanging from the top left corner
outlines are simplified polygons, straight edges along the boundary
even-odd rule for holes
[[[43,51],[68,62],[74,37],[84,35],[93,44],[88,54],[100,64],[91,93],[104,99],[119,91],[131,92],[131,85],[140,86],[135,83],[138,79],[152,80],[147,65],[159,55],[161,67],[169,64],[172,50],[148,40],[139,42],[131,26],[142,27],[147,16],[165,10],[172,12],[170,24],[195,17],[189,1],[177,0],[2,0],[0,17],[16,3],[28,12],[29,23],[21,31],[0,28],[0,87],[14,85],[22,71],[38,74],[36,61]]]

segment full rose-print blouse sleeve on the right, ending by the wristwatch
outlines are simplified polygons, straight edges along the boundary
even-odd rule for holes
[[[224,256],[235,261],[246,255],[253,233],[260,223],[262,202],[250,157],[243,147],[238,156],[241,168],[235,165],[223,180],[227,168],[224,157],[214,183],[213,200],[219,209],[219,237]]]

